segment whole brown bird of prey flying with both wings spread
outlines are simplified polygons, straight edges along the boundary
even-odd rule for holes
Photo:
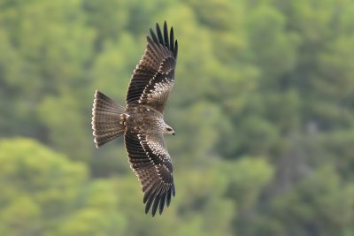
[[[142,185],[145,213],[168,207],[175,195],[173,164],[163,134],[174,135],[164,121],[164,108],[173,88],[178,44],[173,27],[150,28],[147,46],[127,88],[127,105],[120,106],[96,90],[92,129],[96,147],[124,135],[130,167]]]

